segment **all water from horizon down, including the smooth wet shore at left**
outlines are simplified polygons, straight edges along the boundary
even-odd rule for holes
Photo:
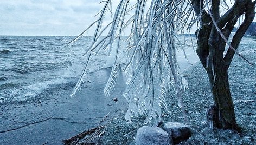
[[[103,93],[114,50],[110,55],[104,49],[93,55],[82,91],[73,98],[69,96],[85,65],[87,55],[83,55],[92,43],[92,37],[85,36],[68,44],[74,38],[0,36],[0,132],[4,131],[0,133],[0,144],[62,144],[62,140],[96,127],[110,111],[125,113],[125,77],[118,77],[110,96]],[[122,44],[119,63],[126,60],[126,44]],[[198,61],[191,43],[185,49],[187,60],[183,51],[177,51],[182,69]],[[118,102],[113,98],[118,98]],[[22,127],[50,117],[66,121],[47,120]]]

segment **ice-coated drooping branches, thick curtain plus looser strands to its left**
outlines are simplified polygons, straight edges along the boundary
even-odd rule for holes
[[[150,2],[146,0],[138,0],[136,4],[121,0],[114,12],[113,21],[102,29],[105,13],[112,8],[111,1],[104,2],[100,18],[93,23],[98,23],[94,41],[85,55],[93,57],[103,48],[115,48],[111,75],[104,89],[104,93],[109,95],[117,79],[123,31],[131,28],[123,70],[127,74],[124,97],[129,103],[125,119],[131,121],[133,116],[145,115],[145,123],[156,123],[161,120],[162,110],[167,109],[165,94],[172,87],[176,90],[180,106],[183,106],[181,90],[187,87],[187,81],[177,64],[175,39],[177,32],[187,25],[191,5],[184,0],[153,0],[150,6],[146,5]],[[108,34],[103,36],[106,30],[109,30]]]

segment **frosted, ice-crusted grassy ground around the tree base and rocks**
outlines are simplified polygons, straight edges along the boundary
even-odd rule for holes
[[[248,38],[247,38],[248,39]],[[256,65],[254,43],[242,44],[240,52]],[[185,108],[193,130],[193,136],[180,144],[256,144],[256,66],[251,66],[240,57],[235,56],[229,68],[229,81],[234,100],[237,123],[241,134],[231,130],[212,130],[206,122],[206,109],[213,103],[208,87],[207,74],[201,64],[195,64],[184,73],[189,88],[184,92]],[[181,110],[177,106],[175,94],[167,97],[168,113],[163,113],[165,121],[184,122]],[[143,118],[127,124],[124,120],[125,110],[114,117],[101,138],[103,144],[134,144],[136,132],[143,126]]]

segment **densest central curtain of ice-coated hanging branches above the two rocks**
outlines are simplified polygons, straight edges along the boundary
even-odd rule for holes
[[[167,109],[165,94],[171,86],[183,106],[181,90],[187,87],[176,60],[175,35],[184,28],[190,5],[185,1],[138,1],[129,37],[129,58],[125,64],[129,102],[125,115],[146,115],[145,123],[161,120],[162,109]]]

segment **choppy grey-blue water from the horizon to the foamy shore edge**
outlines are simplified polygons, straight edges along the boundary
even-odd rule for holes
[[[56,85],[75,85],[92,37],[68,45],[73,38],[0,36],[0,104],[34,101]],[[94,57],[90,71],[111,66],[111,58],[104,52]]]

